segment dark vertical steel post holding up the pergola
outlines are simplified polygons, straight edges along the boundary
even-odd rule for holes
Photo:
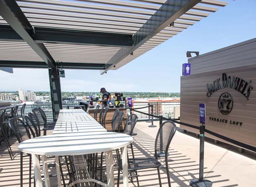
[[[49,81],[52,98],[53,120],[58,118],[58,113],[62,109],[61,82],[58,69],[49,69]]]

